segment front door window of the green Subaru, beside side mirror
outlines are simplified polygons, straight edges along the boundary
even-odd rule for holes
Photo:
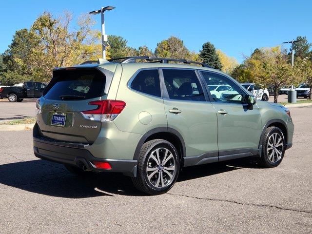
[[[242,103],[244,101],[242,90],[229,78],[204,71],[201,71],[201,74],[207,83],[207,90],[210,92],[210,95],[214,101],[233,103]],[[228,87],[228,89],[224,91],[210,89],[211,86],[220,84],[222,84],[222,86]]]

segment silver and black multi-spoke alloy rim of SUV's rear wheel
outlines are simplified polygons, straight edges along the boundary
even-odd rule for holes
[[[173,154],[166,148],[157,148],[148,156],[146,176],[156,188],[168,187],[176,176],[176,162]]]

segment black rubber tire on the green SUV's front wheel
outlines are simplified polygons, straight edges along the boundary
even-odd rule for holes
[[[277,136],[275,134],[278,134],[281,137],[282,141],[278,143],[278,144],[282,143],[281,146],[276,147],[276,145],[278,145],[277,142],[276,142],[276,144],[272,143],[272,141],[271,141],[272,138],[270,138],[270,137]],[[273,144],[274,147],[271,147],[270,144],[271,145]],[[279,155],[277,153],[277,151],[275,151],[275,147],[276,147],[276,150],[279,153],[281,153],[281,155]],[[270,150],[270,148],[272,148],[272,151]],[[264,133],[264,136],[262,138],[262,152],[261,152],[261,157],[259,159],[260,165],[265,167],[265,168],[277,167],[281,163],[281,161],[283,160],[283,157],[285,154],[285,149],[286,149],[286,143],[285,143],[285,137],[284,137],[283,132],[278,127],[267,128],[265,133]],[[271,152],[272,152],[272,154],[270,154]],[[279,156],[280,156],[280,158],[279,158]],[[276,159],[276,161],[274,161],[274,159]]]

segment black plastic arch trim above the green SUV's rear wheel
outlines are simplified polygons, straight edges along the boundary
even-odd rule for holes
[[[147,133],[145,133],[145,134],[140,138],[140,140],[139,140],[138,143],[137,143],[137,147],[136,147],[136,150],[135,150],[135,154],[134,154],[134,156],[133,156],[133,159],[134,159],[134,160],[137,160],[137,159],[138,159],[138,155],[139,155],[139,153],[140,153],[141,147],[142,147],[142,145],[144,144],[145,140],[146,140],[148,137],[150,137],[150,136],[152,136],[152,135],[154,135],[154,134],[156,134],[156,133],[171,133],[171,134],[175,135],[176,137],[178,137],[179,140],[180,140],[180,142],[181,142],[181,145],[182,145],[182,154],[183,154],[183,155],[181,156],[181,159],[182,159],[183,157],[185,157],[185,155],[186,155],[186,148],[185,148],[185,142],[184,142],[184,139],[183,139],[182,135],[181,135],[178,131],[176,131],[175,129],[173,129],[173,128],[168,128],[168,127],[157,127],[157,128],[154,128],[154,129],[148,131]]]

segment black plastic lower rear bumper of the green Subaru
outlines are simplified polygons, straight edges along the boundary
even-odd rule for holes
[[[84,147],[86,144],[55,141],[45,137],[34,137],[34,154],[41,159],[69,164],[93,172],[120,172],[126,176],[137,176],[137,160],[102,159],[94,157]],[[99,169],[93,161],[108,162],[112,169]]]

